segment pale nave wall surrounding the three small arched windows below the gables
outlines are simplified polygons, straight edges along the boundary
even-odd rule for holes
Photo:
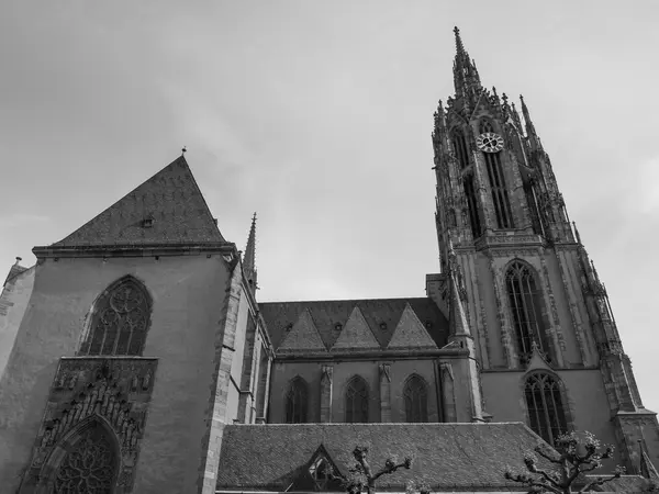
[[[269,400],[269,419],[271,424],[286,422],[286,395],[290,381],[301,377],[306,381],[309,389],[310,423],[321,422],[321,377],[322,366],[333,366],[332,388],[332,422],[343,423],[345,417],[344,393],[348,381],[354,375],[364,378],[369,388],[369,422],[381,422],[380,409],[380,363],[390,363],[391,377],[391,422],[405,422],[405,405],[403,389],[405,381],[412,374],[421,375],[428,390],[428,422],[439,420],[439,405],[437,401],[437,389],[434,370],[434,361],[426,360],[350,360],[336,362],[295,362],[275,361],[271,371],[271,386]]]

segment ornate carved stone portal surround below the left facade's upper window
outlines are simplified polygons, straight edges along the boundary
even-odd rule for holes
[[[63,481],[63,461],[72,461],[63,460],[63,445],[76,430],[88,434],[86,425],[94,420],[115,435],[121,448],[113,492],[132,492],[157,363],[142,357],[62,358],[20,492]]]

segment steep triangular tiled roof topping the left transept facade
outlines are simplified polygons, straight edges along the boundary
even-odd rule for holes
[[[54,246],[223,242],[190,167],[180,156]]]

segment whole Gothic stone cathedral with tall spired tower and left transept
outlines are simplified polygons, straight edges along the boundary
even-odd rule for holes
[[[0,491],[338,492],[367,447],[412,459],[382,491],[515,492],[506,469],[571,430],[614,445],[606,489],[656,478],[656,413],[529,110],[455,41],[425,296],[257,300],[256,216],[241,251],[181,155],[11,267]]]

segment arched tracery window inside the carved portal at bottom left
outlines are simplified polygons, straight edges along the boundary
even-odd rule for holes
[[[101,425],[89,427],[68,451],[55,475],[54,494],[111,494],[116,453]]]

